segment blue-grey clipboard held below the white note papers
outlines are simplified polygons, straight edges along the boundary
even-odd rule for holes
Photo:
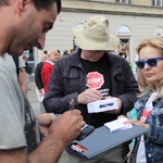
[[[118,145],[150,131],[150,128],[133,125],[133,128],[111,133],[105,126],[95,129],[88,137],[80,141],[73,141],[68,146],[77,155],[91,159]]]

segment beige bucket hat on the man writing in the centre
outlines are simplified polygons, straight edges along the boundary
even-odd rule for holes
[[[109,25],[109,20],[102,15],[89,17],[73,27],[75,43],[84,50],[115,50],[120,40],[110,36]]]

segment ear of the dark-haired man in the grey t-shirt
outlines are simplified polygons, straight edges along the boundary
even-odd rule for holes
[[[21,16],[21,14],[26,11],[27,4],[32,2],[30,0],[16,0],[16,12]]]

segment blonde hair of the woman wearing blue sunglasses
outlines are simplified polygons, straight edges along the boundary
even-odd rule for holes
[[[140,50],[143,47],[153,47],[155,49],[158,49],[160,51],[160,54],[163,57],[163,37],[152,37],[149,39],[143,40],[137,48],[137,52],[139,54]],[[151,83],[148,83],[145,78],[145,76],[142,75],[142,72],[140,70],[138,70],[138,83],[140,84],[140,86],[146,89],[146,91],[143,91],[142,93],[140,93],[138,97],[142,97],[146,93],[148,93],[149,91],[155,91],[155,86]],[[160,92],[158,95],[158,98],[163,97],[163,78],[160,82]]]

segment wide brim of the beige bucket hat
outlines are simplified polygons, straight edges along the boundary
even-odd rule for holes
[[[73,28],[73,37],[75,43],[84,50],[115,50],[120,43],[118,38],[113,36],[110,36],[104,42],[88,40],[83,35],[83,27]]]

